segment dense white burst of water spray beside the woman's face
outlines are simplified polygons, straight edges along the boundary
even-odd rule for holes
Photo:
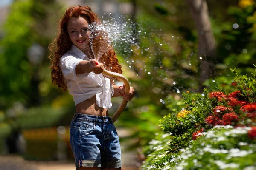
[[[135,23],[132,23],[130,19],[128,19],[129,22],[125,23],[114,17],[110,17],[110,19],[107,21],[103,20],[102,23],[94,22],[89,25],[91,33],[89,36],[90,45],[93,47],[92,51],[96,60],[99,60],[102,54],[112,48],[112,46],[117,50],[124,49],[123,53],[133,52],[130,49],[133,45],[139,48],[135,42],[137,37],[132,33],[132,27]]]

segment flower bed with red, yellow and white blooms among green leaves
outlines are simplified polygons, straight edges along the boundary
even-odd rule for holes
[[[256,72],[256,70],[255,70]],[[235,74],[234,92],[183,93],[186,107],[160,120],[143,170],[256,169],[256,74]]]

